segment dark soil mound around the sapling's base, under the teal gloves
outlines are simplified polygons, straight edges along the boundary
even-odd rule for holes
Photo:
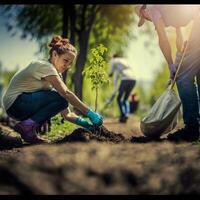
[[[74,130],[70,135],[65,136],[63,139],[57,140],[53,143],[65,143],[65,142],[89,142],[96,140],[100,142],[125,142],[125,137],[120,133],[114,133],[109,131],[104,126],[96,128],[93,132],[86,131],[83,128]]]

